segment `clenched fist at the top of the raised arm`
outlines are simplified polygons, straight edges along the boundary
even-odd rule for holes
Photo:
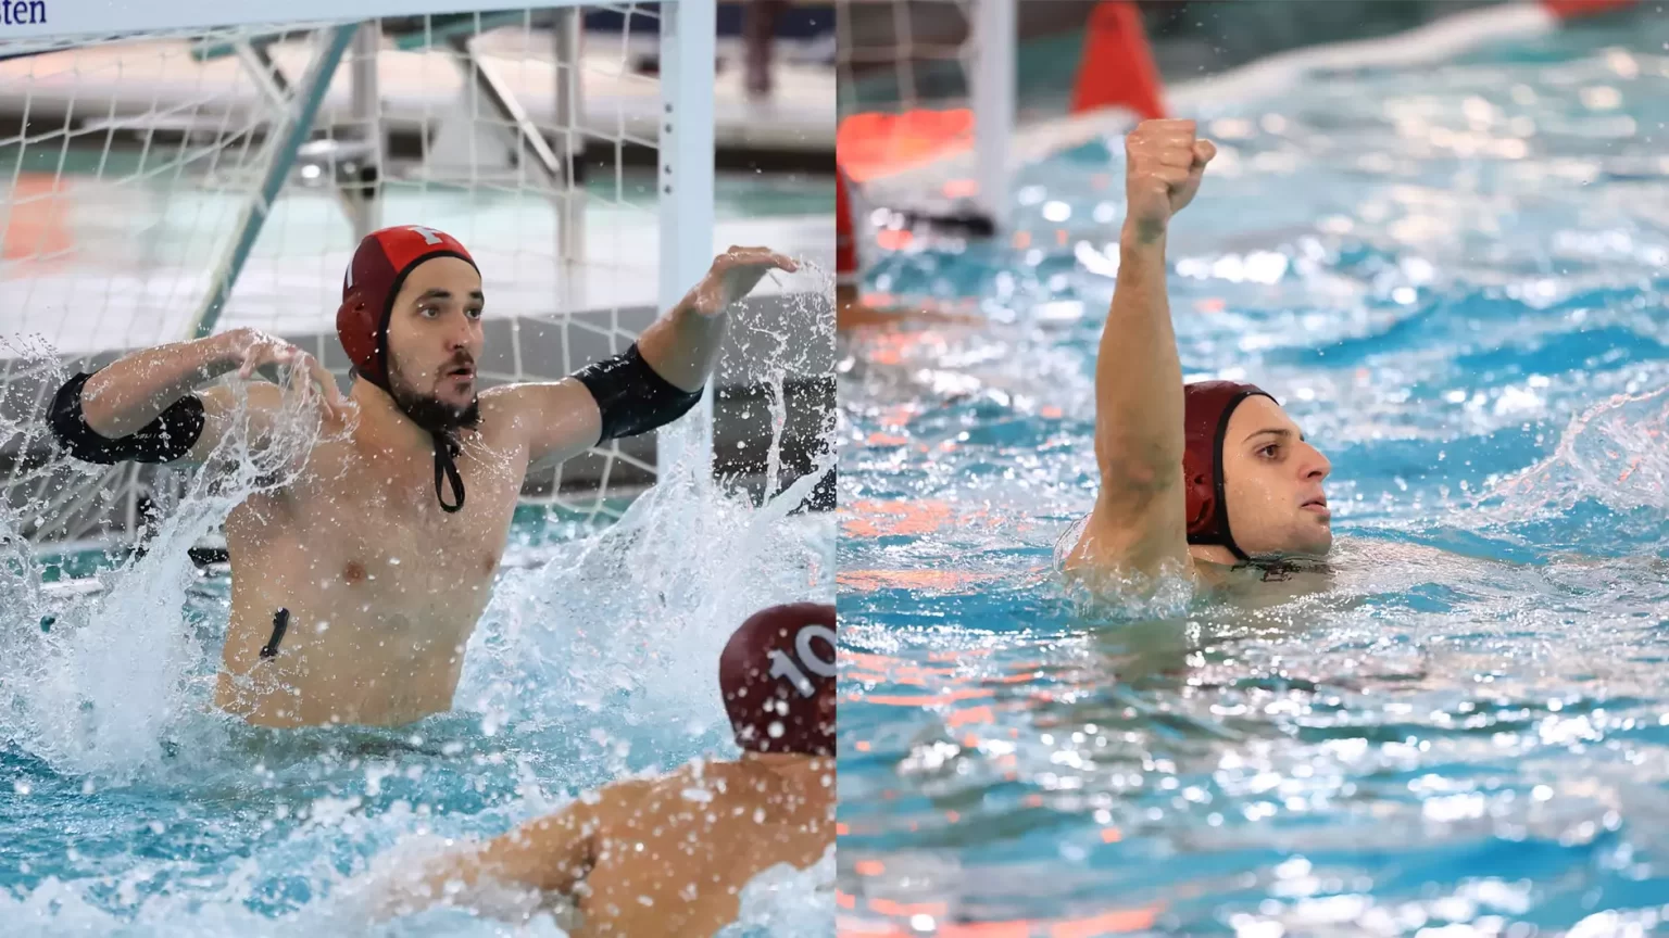
[[[1192,120],[1143,120],[1125,137],[1125,230],[1143,242],[1158,240],[1170,217],[1193,200],[1205,164],[1217,155],[1193,130]]]

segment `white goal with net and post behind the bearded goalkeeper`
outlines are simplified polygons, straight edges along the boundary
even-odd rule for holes
[[[345,387],[335,309],[377,227],[469,245],[484,387],[624,350],[706,269],[711,2],[352,7],[250,0],[204,28],[135,5],[0,42],[0,487],[23,536],[124,539],[182,477],[62,456],[67,374],[259,327]],[[656,472],[631,439],[524,494],[596,516]]]

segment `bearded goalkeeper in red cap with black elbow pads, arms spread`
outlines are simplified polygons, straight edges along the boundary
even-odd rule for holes
[[[382,229],[342,285],[347,397],[300,349],[240,329],[70,379],[52,427],[83,461],[204,462],[240,421],[254,446],[270,442],[284,401],[274,384],[199,384],[267,364],[315,382],[317,439],[287,484],[249,496],[225,522],[232,614],[215,703],[262,726],[409,723],[452,706],[529,464],[688,412],[726,309],[773,269],[796,265],[731,249],[626,354],[477,396],[476,262],[437,230]]]

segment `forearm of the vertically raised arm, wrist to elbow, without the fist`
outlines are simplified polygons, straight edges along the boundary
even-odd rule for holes
[[[1163,487],[1180,474],[1182,361],[1165,295],[1165,235],[1127,229],[1095,362],[1095,447],[1107,481]]]

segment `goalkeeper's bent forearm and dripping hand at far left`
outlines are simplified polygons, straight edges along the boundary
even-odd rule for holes
[[[125,356],[87,379],[80,391],[80,412],[87,431],[103,441],[118,441],[152,426],[179,406],[192,391],[230,371],[249,377],[265,364],[305,371],[322,397],[327,412],[345,414],[347,404],[335,379],[307,352],[254,329],[234,329],[220,335],[175,342]],[[272,386],[252,386],[249,406],[257,416],[275,407],[279,392]],[[202,434],[182,459],[200,462],[214,452],[229,417],[237,407],[227,387],[199,392]]]

